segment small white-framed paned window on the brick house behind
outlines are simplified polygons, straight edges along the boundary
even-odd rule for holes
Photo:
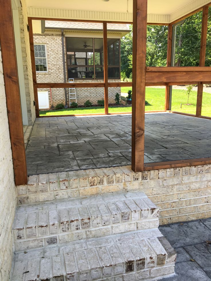
[[[35,67],[37,72],[47,72],[47,52],[45,44],[34,45]]]

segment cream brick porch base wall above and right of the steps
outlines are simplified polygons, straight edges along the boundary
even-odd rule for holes
[[[160,209],[160,224],[211,217],[211,165],[133,172],[130,166],[30,176],[18,204],[139,190]]]

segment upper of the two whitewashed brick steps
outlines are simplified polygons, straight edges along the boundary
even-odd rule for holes
[[[17,207],[15,250],[159,226],[159,209],[142,192],[110,192]]]

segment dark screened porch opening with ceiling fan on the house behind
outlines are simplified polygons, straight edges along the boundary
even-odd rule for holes
[[[66,37],[68,78],[103,79],[103,38]],[[120,78],[120,40],[108,39],[108,78]]]

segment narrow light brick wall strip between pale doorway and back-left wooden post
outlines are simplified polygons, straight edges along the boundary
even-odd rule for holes
[[[32,79],[32,63],[30,55],[30,43],[29,34],[27,30],[28,24],[28,14],[25,1],[22,1],[22,7],[18,8],[19,11],[19,24],[20,24],[20,34],[21,34],[21,46],[22,46],[22,56],[24,65],[24,79],[25,79],[25,89],[26,89],[26,104],[28,112],[28,122],[29,125],[33,125],[36,118],[34,101],[34,89],[33,89],[33,79]]]

